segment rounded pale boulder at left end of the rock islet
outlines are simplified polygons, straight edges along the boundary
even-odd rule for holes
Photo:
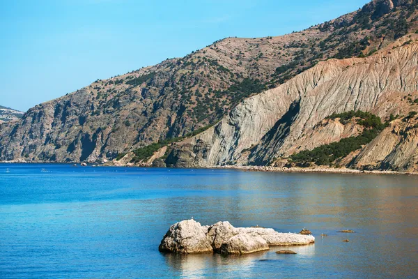
[[[158,250],[180,254],[212,252],[206,233],[207,229],[195,220],[181,221],[170,227]]]

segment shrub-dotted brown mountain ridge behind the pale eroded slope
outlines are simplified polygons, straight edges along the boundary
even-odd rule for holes
[[[0,126],[0,158],[94,162],[187,135],[320,61],[369,56],[387,47],[418,28],[416,6],[371,1],[304,31],[225,38],[180,59],[97,80]]]

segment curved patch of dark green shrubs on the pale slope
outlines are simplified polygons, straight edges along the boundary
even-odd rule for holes
[[[305,150],[295,153],[291,160],[295,163],[315,163],[316,165],[332,165],[339,158],[348,156],[353,151],[361,149],[362,146],[371,142],[386,127],[379,116],[369,112],[351,111],[342,114],[332,114],[327,119],[339,118],[341,123],[346,124],[355,119],[357,124],[365,127],[363,133],[357,137],[346,137],[339,142],[324,144],[313,150]]]

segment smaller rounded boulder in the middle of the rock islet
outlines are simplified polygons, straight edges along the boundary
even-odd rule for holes
[[[260,236],[241,233],[232,236],[231,239],[222,244],[220,252],[221,254],[249,254],[268,249],[267,242]]]

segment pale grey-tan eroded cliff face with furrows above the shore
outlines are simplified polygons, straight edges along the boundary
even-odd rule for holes
[[[248,98],[216,126],[172,147],[167,163],[189,167],[266,165],[356,135],[361,128],[325,123],[362,110],[388,119],[418,111],[418,36],[405,36],[367,58],[318,63],[275,89]],[[369,169],[417,169],[417,119],[392,121],[348,163]],[[341,124],[341,123],[340,123]]]

